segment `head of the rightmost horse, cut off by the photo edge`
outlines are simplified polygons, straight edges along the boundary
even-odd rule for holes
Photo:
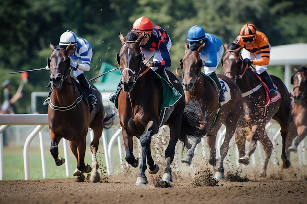
[[[291,84],[293,84],[292,97],[294,99],[294,103],[301,104],[305,102],[307,98],[306,89],[307,89],[307,68],[305,66],[301,66],[298,69],[294,69],[296,72],[294,76],[291,78]],[[303,100],[305,98],[305,100]]]

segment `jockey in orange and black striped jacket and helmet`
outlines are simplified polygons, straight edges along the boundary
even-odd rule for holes
[[[234,40],[235,44],[244,46],[242,58],[248,65],[256,65],[255,69],[261,79],[268,85],[270,97],[278,95],[270,75],[266,72],[270,62],[271,45],[266,35],[256,30],[255,25],[242,26],[240,35]]]

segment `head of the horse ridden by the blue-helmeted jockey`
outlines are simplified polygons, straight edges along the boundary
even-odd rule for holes
[[[200,58],[200,52],[205,44],[189,48],[189,44],[185,43],[185,54],[180,60],[180,68],[182,69],[182,85],[185,91],[192,91],[196,80],[201,76],[203,60]]]

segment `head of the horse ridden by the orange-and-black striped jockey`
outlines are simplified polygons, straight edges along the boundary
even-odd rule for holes
[[[243,47],[234,43],[224,44],[224,47],[226,52],[221,61],[224,75],[236,82],[237,78],[242,78],[247,68],[240,53]]]

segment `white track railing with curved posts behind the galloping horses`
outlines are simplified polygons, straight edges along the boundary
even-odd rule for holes
[[[105,154],[106,168],[107,168],[107,173],[109,175],[114,174],[114,172],[115,172],[114,158],[113,158],[112,152],[113,152],[113,148],[114,148],[114,146],[116,146],[116,144],[118,145],[118,152],[119,152],[119,157],[120,157],[119,159],[120,159],[121,169],[124,170],[125,167],[127,166],[126,161],[123,159],[124,158],[124,152],[122,151],[123,145],[122,145],[121,128],[119,127],[118,116],[116,118],[117,119],[115,120],[114,125],[117,128],[117,131],[114,133],[114,135],[112,135],[110,137],[109,142],[107,141],[108,137],[107,137],[105,131],[102,132],[102,142],[103,142],[103,148],[104,148],[104,154]],[[45,150],[44,150],[43,137],[42,137],[42,134],[41,134],[41,130],[47,124],[48,124],[47,114],[0,115],[0,180],[4,179],[3,136],[2,136],[2,133],[7,128],[9,128],[10,126],[14,126],[14,125],[37,125],[35,127],[35,129],[29,134],[29,136],[27,136],[25,144],[24,144],[23,158],[24,158],[25,180],[30,179],[28,150],[29,150],[29,147],[30,147],[32,140],[34,139],[35,136],[37,136],[37,134],[39,134],[39,139],[40,139],[43,177],[46,178],[47,173],[46,173]],[[274,146],[274,149],[273,149],[273,152],[272,152],[272,157],[274,158],[272,160],[273,164],[276,164],[278,162],[278,160],[276,158],[280,157],[280,151],[279,151],[279,153],[277,153],[276,149],[275,149],[277,140],[281,139],[280,132],[279,132],[279,130],[280,130],[279,126],[276,126],[276,125],[277,125],[277,123],[275,121],[271,121],[266,126],[267,130],[271,130],[271,132],[270,131],[268,132],[268,136],[271,138],[271,141],[272,141],[273,146]],[[274,130],[274,131],[272,131],[272,130]],[[93,131],[91,129],[89,129],[89,131],[90,131],[90,137],[91,137],[91,140],[92,140]],[[159,145],[160,146],[161,140],[158,140],[158,138],[159,137],[165,138],[168,135],[169,135],[168,128],[166,126],[162,126],[162,128],[159,131],[159,133],[157,134],[157,136],[153,137],[153,143],[154,143],[153,145]],[[216,143],[216,146],[217,146],[216,157],[217,158],[220,157],[219,147],[221,146],[221,144],[224,140],[224,138],[223,138],[224,135],[225,135],[225,129],[221,128],[221,130],[219,131],[218,139],[217,139],[217,143]],[[305,148],[306,140],[307,139],[302,141],[300,143],[300,145],[298,146],[298,159],[299,159],[298,163],[300,165],[304,165],[304,166],[306,166],[306,150],[305,150],[306,149]],[[168,140],[165,138],[165,140],[162,141],[163,147],[162,148],[155,148],[156,150],[159,149],[159,151],[160,151],[160,153],[156,152],[156,155],[161,155],[161,157],[163,157],[164,150],[167,146],[167,141]],[[281,142],[279,142],[279,143],[281,144]],[[69,169],[70,165],[69,165],[69,157],[68,157],[68,149],[69,148],[68,148],[68,142],[65,139],[63,139],[63,146],[64,146],[64,156],[65,156],[65,159],[66,159],[66,162],[65,162],[66,176],[69,177],[70,176],[70,169]],[[199,145],[198,148],[200,148],[200,147],[202,148],[201,155],[203,155],[205,158],[207,158],[206,154],[208,152],[207,152],[207,144],[206,144],[205,138],[202,139],[202,142],[201,142],[201,144]],[[257,145],[257,149],[258,149],[258,154],[260,155],[260,158],[261,158],[261,155],[263,154],[262,146]],[[162,153],[161,153],[161,151],[162,151]],[[197,149],[195,151],[197,151]],[[239,156],[238,156],[238,150],[237,150],[235,142],[234,142],[234,138],[232,138],[231,141],[230,141],[229,152],[231,152],[231,151],[236,152],[236,158],[237,158],[236,161],[237,161]],[[178,152],[180,152],[180,151],[178,151]],[[140,154],[141,154],[140,148],[138,150],[138,153],[139,153],[139,157],[140,157]],[[177,155],[175,157],[180,157],[179,153],[177,153]],[[158,159],[158,160],[163,162],[164,159]],[[174,159],[176,168],[179,166],[179,164],[176,163],[176,162],[178,162],[178,160],[180,160],[180,158]],[[257,166],[254,155],[252,155],[252,157],[251,157],[251,164],[255,167]],[[191,165],[191,168],[193,168],[193,165]],[[236,163],[236,165],[237,166],[239,165],[238,162]]]

